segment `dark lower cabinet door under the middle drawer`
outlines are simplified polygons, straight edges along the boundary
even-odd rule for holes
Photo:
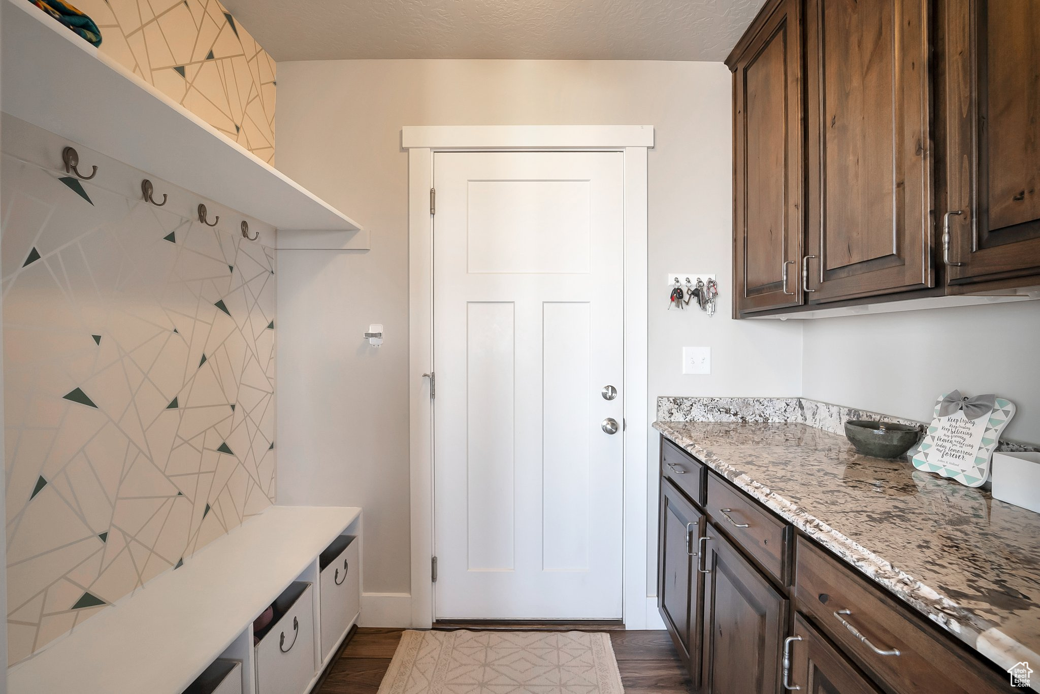
[[[705,694],[776,694],[787,600],[711,523],[705,530]]]

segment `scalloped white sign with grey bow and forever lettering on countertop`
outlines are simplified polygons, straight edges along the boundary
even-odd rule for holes
[[[1014,415],[1015,404],[996,395],[967,397],[959,390],[940,395],[914,467],[978,487],[989,478],[1000,432]]]

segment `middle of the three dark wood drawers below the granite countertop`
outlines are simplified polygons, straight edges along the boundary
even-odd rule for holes
[[[738,492],[728,482],[708,475],[707,512],[721,530],[763,569],[787,585],[787,537],[789,525],[774,518],[758,503]]]

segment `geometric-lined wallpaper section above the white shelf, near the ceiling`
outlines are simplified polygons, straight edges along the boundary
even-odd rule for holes
[[[275,60],[217,0],[76,0],[99,50],[257,157],[275,160]]]

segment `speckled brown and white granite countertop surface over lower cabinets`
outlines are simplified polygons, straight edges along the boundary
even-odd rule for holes
[[[653,427],[1002,668],[1040,663],[1040,514],[804,423]]]

